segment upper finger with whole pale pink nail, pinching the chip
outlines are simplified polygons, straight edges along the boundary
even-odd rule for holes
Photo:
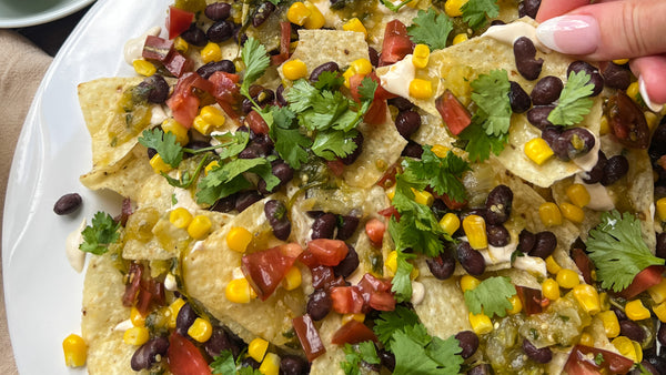
[[[577,8],[545,21],[537,38],[546,47],[587,60],[666,52],[666,1],[609,1]]]

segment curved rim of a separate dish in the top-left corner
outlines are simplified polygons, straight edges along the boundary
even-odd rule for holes
[[[69,16],[94,0],[0,0],[0,28],[22,28]]]

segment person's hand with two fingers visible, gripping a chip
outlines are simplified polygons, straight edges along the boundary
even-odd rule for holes
[[[666,1],[542,0],[537,38],[546,47],[585,60],[632,59],[640,94],[650,109],[666,103]]]

